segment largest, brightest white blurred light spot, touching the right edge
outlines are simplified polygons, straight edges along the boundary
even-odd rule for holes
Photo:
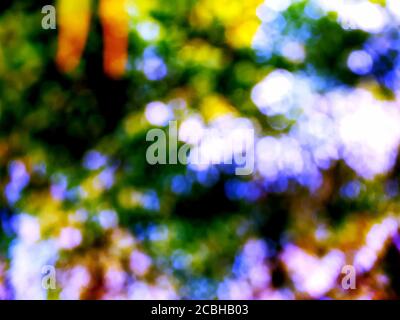
[[[394,165],[400,144],[400,111],[389,103],[358,90],[337,103],[339,134],[343,157],[365,178],[387,172]]]

